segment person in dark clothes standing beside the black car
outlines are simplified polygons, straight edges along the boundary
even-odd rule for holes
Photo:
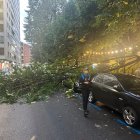
[[[88,106],[88,98],[90,94],[90,74],[88,68],[84,68],[83,72],[80,76],[79,83],[81,85],[81,91],[82,91],[82,96],[83,96],[83,110],[84,110],[84,116],[87,117],[89,111],[87,110]]]

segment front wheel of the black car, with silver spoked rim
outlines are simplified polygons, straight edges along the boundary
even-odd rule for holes
[[[130,126],[136,126],[138,123],[138,116],[136,111],[131,107],[125,107],[123,109],[123,119],[126,124]]]

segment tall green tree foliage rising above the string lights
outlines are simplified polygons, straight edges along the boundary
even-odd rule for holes
[[[140,45],[139,0],[30,0],[27,13],[26,40],[41,62]]]

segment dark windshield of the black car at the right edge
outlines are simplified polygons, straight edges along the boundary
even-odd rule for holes
[[[133,76],[118,78],[125,89],[137,90],[140,89],[140,79]]]

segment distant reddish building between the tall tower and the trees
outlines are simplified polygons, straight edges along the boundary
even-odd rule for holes
[[[29,66],[31,63],[31,46],[21,43],[21,56],[23,66]]]

